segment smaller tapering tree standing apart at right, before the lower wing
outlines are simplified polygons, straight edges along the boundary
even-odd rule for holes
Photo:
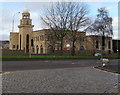
[[[97,18],[87,29],[88,32],[101,36],[101,50],[104,52],[105,37],[113,35],[112,18],[105,7],[98,9]]]

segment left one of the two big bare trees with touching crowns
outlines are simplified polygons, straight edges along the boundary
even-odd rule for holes
[[[46,15],[41,17],[42,21],[53,32],[57,41],[60,41],[61,54],[63,53],[63,39],[67,35],[69,6],[71,3],[58,2],[47,9]]]

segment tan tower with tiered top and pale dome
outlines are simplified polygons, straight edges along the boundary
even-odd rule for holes
[[[32,19],[30,19],[30,13],[28,9],[24,9],[22,13],[22,19],[20,20],[19,28],[19,50],[25,50],[30,52],[31,50],[31,33],[34,25],[32,25]]]

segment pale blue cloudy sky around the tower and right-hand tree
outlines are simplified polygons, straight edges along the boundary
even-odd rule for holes
[[[78,2],[79,3],[79,2]],[[12,31],[13,15],[17,12],[23,12],[24,8],[28,8],[31,14],[33,30],[40,30],[43,25],[40,20],[40,15],[43,15],[43,10],[49,8],[50,2],[0,2],[0,40],[9,40],[9,34]],[[113,18],[113,38],[118,38],[118,2],[86,2],[89,8],[89,17],[96,18],[97,10],[100,7],[106,7],[109,16]],[[18,32],[18,25],[21,19],[21,13],[14,17],[14,32]]]

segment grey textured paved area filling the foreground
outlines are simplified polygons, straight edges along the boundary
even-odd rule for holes
[[[118,75],[92,67],[31,70],[3,74],[3,93],[103,93]]]

